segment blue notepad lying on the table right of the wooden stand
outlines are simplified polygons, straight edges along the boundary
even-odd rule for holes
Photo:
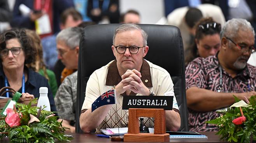
[[[168,131],[170,139],[208,139],[204,134],[200,134],[192,131]]]

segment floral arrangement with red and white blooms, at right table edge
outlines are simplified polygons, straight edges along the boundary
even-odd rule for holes
[[[219,127],[217,134],[221,139],[241,143],[256,141],[256,96],[245,101],[247,103],[235,97],[235,104],[222,111],[222,116],[206,122]]]

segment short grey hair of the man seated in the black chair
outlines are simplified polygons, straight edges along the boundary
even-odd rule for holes
[[[147,33],[143,29],[141,29],[140,26],[136,24],[123,24],[121,26],[118,26],[113,36],[113,45],[115,43],[116,34],[118,32],[133,31],[133,30],[140,30],[143,38],[143,46],[147,46]]]

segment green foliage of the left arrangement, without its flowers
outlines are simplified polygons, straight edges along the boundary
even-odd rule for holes
[[[10,128],[5,123],[5,118],[0,120],[0,132],[9,132],[8,138],[13,143],[54,143],[55,140],[69,141],[70,138],[64,136],[65,128],[57,121],[56,116],[46,118],[53,112],[44,111],[40,113],[40,122],[33,122],[28,125],[30,114],[37,116],[39,107],[31,106],[36,100],[32,100],[28,105],[16,104],[17,111],[22,114],[21,126]],[[0,134],[0,138],[5,135]]]

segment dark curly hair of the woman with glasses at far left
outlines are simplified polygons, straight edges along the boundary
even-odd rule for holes
[[[23,48],[25,54],[24,64],[30,64],[34,62],[37,51],[35,50],[35,48],[32,48],[32,41],[26,35],[25,29],[11,29],[3,32],[0,35],[0,52],[6,48],[6,41],[14,38],[17,38],[19,40],[19,43]],[[0,59],[2,64],[2,58]]]

